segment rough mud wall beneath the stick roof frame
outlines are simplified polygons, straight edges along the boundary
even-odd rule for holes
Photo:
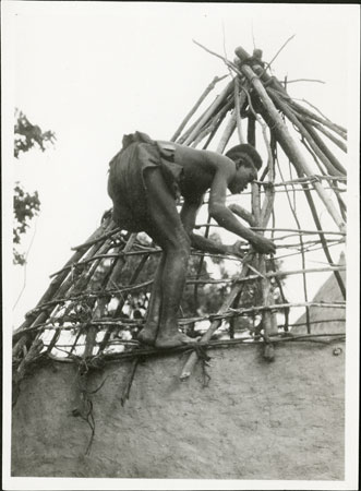
[[[180,356],[130,363],[91,379],[95,438],[72,416],[73,366],[39,368],[24,380],[13,410],[12,475],[33,477],[344,479],[342,344],[278,345],[274,362],[258,346],[209,351],[210,381],[198,364],[179,381]]]

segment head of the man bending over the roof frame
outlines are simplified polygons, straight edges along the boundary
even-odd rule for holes
[[[233,194],[240,193],[257,178],[257,170],[262,167],[262,158],[257,151],[246,143],[230,148],[226,153],[226,157],[231,158],[237,168],[237,173],[228,188]]]

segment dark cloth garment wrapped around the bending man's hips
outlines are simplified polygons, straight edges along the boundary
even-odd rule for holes
[[[180,196],[183,168],[175,164],[175,149],[161,148],[147,134],[136,131],[123,136],[121,151],[109,166],[108,193],[112,218],[129,231],[144,230],[148,220],[146,169],[159,168],[171,195]]]

